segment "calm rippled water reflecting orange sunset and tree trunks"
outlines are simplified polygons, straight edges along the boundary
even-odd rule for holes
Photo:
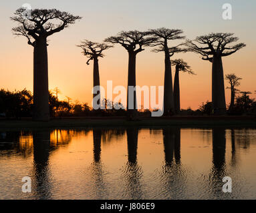
[[[0,199],[256,199],[255,164],[255,129],[0,130]]]

